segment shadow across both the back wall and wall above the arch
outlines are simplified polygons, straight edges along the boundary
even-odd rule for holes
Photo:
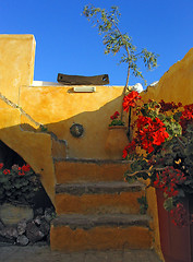
[[[110,122],[110,116],[113,115],[116,110],[120,111],[121,100],[122,96],[107,103],[97,110],[74,114],[73,117],[51,123],[44,122],[47,118],[44,111],[40,111],[43,119],[40,119],[40,121],[38,119],[38,121],[47,127],[48,132],[53,132],[58,139],[67,141],[68,157],[109,159],[110,157],[105,150],[109,131],[108,124]],[[47,105],[46,114],[49,114],[49,106],[50,105]],[[37,108],[38,107],[36,107],[36,112]],[[17,114],[17,109],[15,110]],[[13,109],[11,114],[7,114],[7,116],[13,118]],[[36,115],[31,116],[33,119],[36,119]],[[28,123],[27,119],[23,118],[22,122],[23,124],[0,129],[0,139],[10,146],[10,148],[20,154],[20,156],[32,166],[35,172],[40,174],[41,183],[52,203],[55,203],[56,177],[52,158],[52,138],[47,132],[40,132],[38,129],[35,130],[33,124]],[[84,128],[84,133],[81,138],[74,138],[70,133],[70,128],[74,122],[82,124]],[[10,166],[11,164],[12,163],[10,163]]]

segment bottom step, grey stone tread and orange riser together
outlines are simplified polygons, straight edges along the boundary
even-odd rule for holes
[[[146,215],[61,215],[52,221],[51,250],[149,249],[153,237]]]

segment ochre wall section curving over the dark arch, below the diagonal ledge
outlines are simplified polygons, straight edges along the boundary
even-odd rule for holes
[[[40,174],[41,182],[55,204],[56,178],[51,136],[47,133],[22,131],[19,109],[0,108],[0,140]]]

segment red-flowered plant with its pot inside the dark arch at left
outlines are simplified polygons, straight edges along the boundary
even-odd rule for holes
[[[4,224],[33,218],[33,199],[40,188],[38,176],[28,164],[11,169],[0,164],[0,218]]]

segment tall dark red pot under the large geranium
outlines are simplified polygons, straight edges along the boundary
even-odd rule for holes
[[[193,261],[193,226],[178,227],[171,222],[169,212],[164,207],[165,198],[156,190],[159,217],[160,245],[165,262]],[[184,198],[183,206],[188,215],[192,214],[193,196]]]

